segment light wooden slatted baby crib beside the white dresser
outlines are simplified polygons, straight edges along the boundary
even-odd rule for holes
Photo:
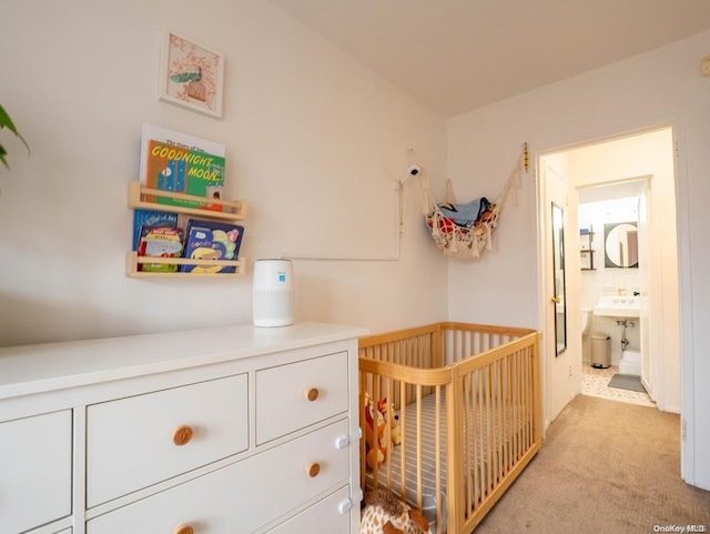
[[[437,534],[473,532],[540,447],[539,365],[534,330],[437,323],[361,339],[361,427],[367,399],[392,407],[384,461],[366,460],[376,432],[361,441],[363,491],[405,495]]]

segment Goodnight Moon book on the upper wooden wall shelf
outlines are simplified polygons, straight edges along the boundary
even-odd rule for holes
[[[154,124],[143,124],[141,141],[141,183],[150,189],[202,197],[204,202],[149,195],[159,204],[223,211],[224,144],[176,132]]]

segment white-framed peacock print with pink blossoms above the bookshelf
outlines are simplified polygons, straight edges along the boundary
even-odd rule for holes
[[[160,61],[159,98],[199,113],[222,118],[224,54],[171,30]]]

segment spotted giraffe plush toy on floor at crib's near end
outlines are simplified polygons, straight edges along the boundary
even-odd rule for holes
[[[386,490],[365,494],[359,534],[432,534],[429,523]]]

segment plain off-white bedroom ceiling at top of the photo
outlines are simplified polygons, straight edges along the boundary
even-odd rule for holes
[[[445,118],[710,28],[709,0],[271,2]]]

